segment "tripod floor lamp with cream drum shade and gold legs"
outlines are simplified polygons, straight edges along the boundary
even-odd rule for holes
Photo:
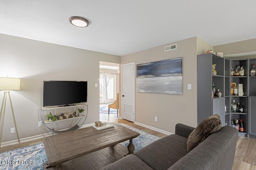
[[[10,78],[10,77],[0,77],[0,90],[4,90],[4,97],[3,97],[1,113],[0,113],[0,121],[2,119],[1,135],[0,135],[0,146],[1,146],[1,142],[2,142],[2,134],[3,134],[3,127],[4,127],[4,115],[5,115],[7,93],[9,95],[10,105],[11,105],[11,108],[12,108],[12,117],[13,117],[15,129],[16,129],[16,134],[17,134],[17,137],[18,137],[18,141],[20,143],[20,137],[19,137],[18,128],[17,128],[17,125],[16,125],[15,117],[14,117],[14,112],[13,112],[13,107],[12,107],[12,100],[11,100],[11,96],[10,96],[10,90],[20,90],[20,79]],[[3,113],[3,118],[2,118],[2,113]]]

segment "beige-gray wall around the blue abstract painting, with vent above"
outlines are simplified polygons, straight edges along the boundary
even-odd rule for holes
[[[177,43],[177,49],[164,52],[164,46]],[[135,121],[174,133],[176,123],[197,125],[196,53],[197,38],[173,42],[121,57],[121,63],[141,64],[183,57],[183,95],[135,93]],[[192,90],[187,90],[187,84]],[[136,86],[136,82],[135,82]],[[154,117],[158,121],[154,121]]]

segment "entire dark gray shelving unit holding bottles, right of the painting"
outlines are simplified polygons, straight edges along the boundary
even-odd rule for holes
[[[212,75],[212,64],[216,64],[217,75]],[[244,76],[231,76],[230,67],[244,66]],[[198,124],[206,117],[218,113],[222,119],[222,126],[231,120],[243,119],[245,132],[239,136],[256,138],[256,76],[249,76],[254,59],[226,59],[212,53],[197,55],[197,120]],[[212,82],[216,89],[220,89],[222,97],[212,99]],[[233,96],[230,93],[231,83],[243,84],[243,96]],[[231,112],[231,103],[235,100],[244,109],[242,113]],[[225,112],[226,106],[226,112]]]

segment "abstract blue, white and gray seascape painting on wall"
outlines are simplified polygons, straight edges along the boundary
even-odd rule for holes
[[[137,64],[137,92],[182,95],[182,57]]]

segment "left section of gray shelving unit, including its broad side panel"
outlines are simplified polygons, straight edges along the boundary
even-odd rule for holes
[[[212,75],[212,64],[216,64],[217,75]],[[229,100],[229,96],[226,96],[227,92],[225,91],[225,79],[229,78],[228,75],[225,75],[225,69],[228,64],[228,59],[212,53],[197,55],[198,124],[206,117],[217,113],[220,115],[222,126],[224,126],[225,117],[229,115],[224,112],[225,101],[226,99]],[[214,82],[216,90],[220,89],[222,97],[214,96],[214,99],[212,99],[212,82]]]

